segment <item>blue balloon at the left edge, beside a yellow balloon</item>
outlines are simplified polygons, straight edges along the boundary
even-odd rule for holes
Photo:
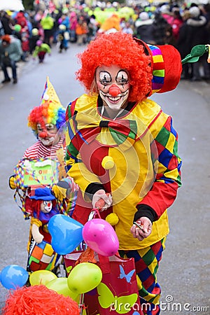
[[[8,265],[1,270],[1,284],[8,290],[24,286],[28,277],[28,272],[18,265]]]

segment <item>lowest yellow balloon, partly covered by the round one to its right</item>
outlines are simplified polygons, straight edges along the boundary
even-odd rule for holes
[[[46,287],[64,296],[69,296],[72,298],[72,300],[76,300],[78,297],[77,293],[72,292],[69,289],[67,278],[60,277],[57,279],[53,279],[46,284]]]

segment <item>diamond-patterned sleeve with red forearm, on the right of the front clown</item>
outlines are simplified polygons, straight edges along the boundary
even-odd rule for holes
[[[158,149],[158,172],[151,190],[139,204],[151,207],[158,220],[174,200],[178,188],[181,186],[181,158],[178,155],[178,134],[172,126],[169,116],[162,127],[155,144]]]

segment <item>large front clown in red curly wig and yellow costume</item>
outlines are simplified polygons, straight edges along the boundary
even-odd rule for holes
[[[169,233],[167,208],[181,186],[172,117],[153,100],[173,90],[181,58],[121,32],[104,34],[78,55],[87,90],[66,109],[68,174],[80,187],[73,218],[85,223],[99,199],[112,220],[120,255],[133,257],[145,314],[159,314],[157,270]]]

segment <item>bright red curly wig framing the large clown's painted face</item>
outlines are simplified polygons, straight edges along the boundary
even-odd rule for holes
[[[94,84],[97,67],[112,64],[125,69],[130,75],[130,102],[141,102],[151,92],[151,55],[146,55],[144,45],[134,41],[130,34],[120,31],[102,34],[78,54],[78,59],[81,68],[76,72],[76,78],[87,92],[98,92]]]

